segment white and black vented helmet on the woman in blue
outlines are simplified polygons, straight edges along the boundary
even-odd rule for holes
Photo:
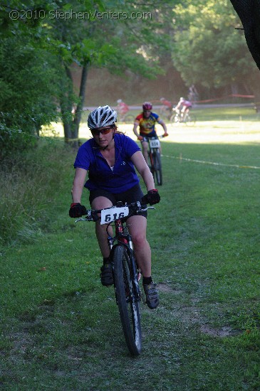
[[[115,124],[118,114],[108,105],[100,106],[98,109],[90,112],[88,116],[88,127],[90,129],[108,127],[108,125]]]

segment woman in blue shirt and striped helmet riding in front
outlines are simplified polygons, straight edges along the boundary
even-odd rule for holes
[[[92,209],[110,208],[117,201],[133,203],[137,200],[153,205],[160,202],[160,195],[155,189],[152,173],[145,163],[139,146],[117,131],[115,122],[117,113],[108,105],[98,107],[88,116],[88,127],[93,139],[86,141],[78,149],[74,167],[76,173],[73,181],[71,218],[85,214],[85,206],[81,205],[83,187],[90,191],[89,201]],[[147,188],[143,195],[137,169]],[[88,181],[85,176],[88,173]],[[103,255],[101,283],[105,286],[113,284],[113,272],[110,264],[110,250],[105,225],[95,223],[95,233],[100,251]],[[128,229],[135,247],[135,256],[142,272],[142,285],[146,303],[150,309],[159,304],[159,295],[151,274],[151,250],[146,239],[147,213],[132,215],[128,218]],[[112,235],[112,227],[109,227]]]

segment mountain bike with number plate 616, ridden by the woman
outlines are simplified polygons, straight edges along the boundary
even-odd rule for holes
[[[108,227],[115,223],[115,236],[108,233],[108,246],[110,248],[110,260],[113,270],[115,301],[118,304],[120,320],[125,335],[125,341],[132,355],[139,355],[142,348],[142,331],[140,321],[141,291],[139,286],[140,269],[135,259],[132,246],[132,237],[128,232],[126,220],[135,213],[147,209],[155,209],[146,206],[139,201],[123,205],[118,202],[111,208],[102,210],[87,210],[85,218],[78,221],[98,221]]]

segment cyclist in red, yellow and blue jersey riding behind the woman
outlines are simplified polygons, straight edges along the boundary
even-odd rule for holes
[[[132,130],[135,133],[135,136],[137,136],[137,139],[140,140],[142,143],[142,154],[147,164],[148,164],[148,139],[149,137],[157,137],[157,133],[155,130],[156,122],[160,124],[164,129],[165,133],[163,134],[163,136],[164,137],[168,136],[165,122],[163,122],[162,119],[159,118],[158,114],[152,112],[152,103],[145,102],[142,105],[142,113],[137,115],[137,117],[135,118],[135,123]],[[138,134],[137,132],[137,127],[140,128],[140,134]]]

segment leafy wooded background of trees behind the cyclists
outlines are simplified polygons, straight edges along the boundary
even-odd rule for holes
[[[259,69],[228,0],[6,0],[0,23],[1,158],[52,121],[77,139],[84,106],[119,98],[177,102],[194,84],[199,100],[260,101]]]

